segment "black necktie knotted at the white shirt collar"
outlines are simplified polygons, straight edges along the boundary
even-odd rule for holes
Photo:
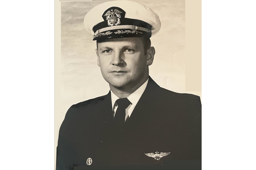
[[[118,108],[116,114],[114,115],[114,123],[117,125],[117,128],[122,128],[125,121],[125,110],[131,104],[128,98],[119,98],[116,101]]]

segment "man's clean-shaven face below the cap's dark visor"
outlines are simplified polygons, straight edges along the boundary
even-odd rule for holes
[[[132,88],[148,76],[148,55],[142,38],[113,38],[98,42],[98,66],[103,78],[118,89]]]

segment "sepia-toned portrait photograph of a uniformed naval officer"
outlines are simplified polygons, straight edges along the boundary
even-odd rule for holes
[[[202,160],[202,1],[54,5],[54,169]]]

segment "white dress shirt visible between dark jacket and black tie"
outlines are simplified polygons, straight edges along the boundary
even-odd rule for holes
[[[126,108],[126,117],[125,121],[130,117],[132,114],[133,109],[135,108],[136,104],[138,103],[140,97],[142,96],[143,92],[146,89],[146,86],[148,85],[148,80],[141,85],[136,91],[134,91],[130,96],[128,96],[128,100],[132,103]],[[110,90],[111,91],[111,90]],[[113,92],[111,91],[111,102],[112,102],[112,112],[113,115],[116,114],[116,110],[118,108],[118,105],[116,103],[116,100],[119,99]]]

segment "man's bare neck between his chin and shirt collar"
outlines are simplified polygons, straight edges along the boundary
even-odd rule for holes
[[[118,98],[127,98],[131,94],[133,94],[134,91],[136,91],[140,86],[142,86],[146,80],[148,80],[149,75],[143,77],[141,81],[139,81],[138,84],[136,84],[133,87],[128,87],[128,88],[116,88],[110,84],[110,89],[113,92],[114,95],[116,95]]]

